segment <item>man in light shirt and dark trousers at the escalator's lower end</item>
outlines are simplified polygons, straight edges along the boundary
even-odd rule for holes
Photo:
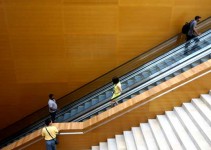
[[[48,108],[51,115],[52,122],[56,119],[57,104],[53,94],[49,94]]]

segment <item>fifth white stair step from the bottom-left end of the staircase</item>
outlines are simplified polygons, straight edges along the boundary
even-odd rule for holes
[[[136,144],[132,131],[124,131],[123,135],[125,138],[127,150],[136,150]]]

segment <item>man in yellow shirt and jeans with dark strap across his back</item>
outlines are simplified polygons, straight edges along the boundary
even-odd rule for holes
[[[58,134],[58,129],[52,125],[51,119],[45,120],[46,126],[42,129],[42,136],[45,139],[47,150],[56,150],[56,136]]]

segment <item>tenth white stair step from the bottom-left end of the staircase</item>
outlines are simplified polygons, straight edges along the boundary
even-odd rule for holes
[[[188,133],[186,132],[186,130],[180,123],[176,114],[173,111],[166,111],[166,116],[174,132],[176,133],[177,138],[180,140],[180,143],[183,145],[183,147],[187,150],[189,149],[196,150],[197,149],[196,146],[194,145]]]

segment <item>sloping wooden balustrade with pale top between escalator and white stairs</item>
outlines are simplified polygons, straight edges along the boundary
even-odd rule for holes
[[[190,82],[189,82],[190,81]],[[60,135],[59,149],[89,149],[99,141],[106,141],[115,134],[122,134],[124,130],[130,130],[132,126],[147,119],[155,118],[156,115],[172,110],[188,102],[191,98],[199,97],[207,93],[211,81],[211,60],[196,66],[152,89],[133,97],[132,99],[111,108],[100,115],[80,123],[55,123],[62,132],[84,132],[79,135]],[[174,89],[173,89],[174,88]],[[163,94],[165,92],[165,94]],[[40,138],[41,130],[32,133],[25,138],[9,145],[6,149],[16,149],[30,141]],[[25,149],[43,149],[43,141],[36,142]]]

